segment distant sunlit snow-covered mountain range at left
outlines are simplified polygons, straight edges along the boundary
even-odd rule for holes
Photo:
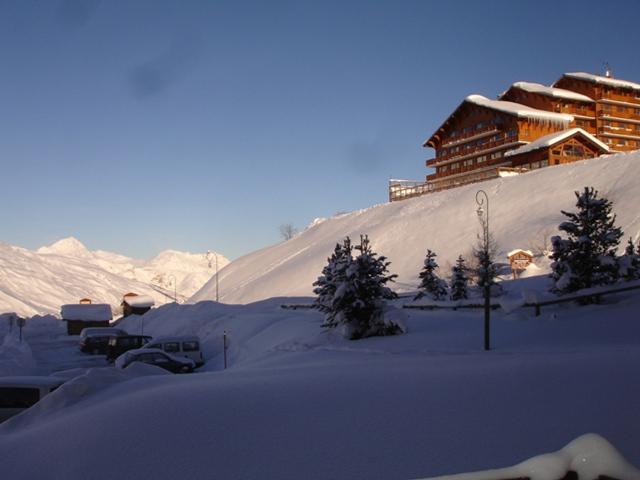
[[[218,268],[229,263],[218,254]],[[138,260],[90,251],[69,237],[37,251],[0,243],[0,313],[59,314],[60,305],[90,298],[117,311],[122,295],[150,295],[156,304],[190,297],[215,273],[205,254],[167,250]]]

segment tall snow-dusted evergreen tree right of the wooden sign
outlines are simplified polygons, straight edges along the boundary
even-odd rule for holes
[[[558,226],[567,238],[551,239],[551,278],[558,293],[610,284],[619,277],[616,250],[622,230],[615,226],[611,202],[598,198],[593,187],[575,195],[578,211],[562,211],[568,221]]]

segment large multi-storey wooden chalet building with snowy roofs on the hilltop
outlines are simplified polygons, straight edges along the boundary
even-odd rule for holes
[[[423,144],[426,183],[391,180],[389,199],[640,148],[640,84],[565,73],[548,87],[516,82],[497,100],[465,98]]]

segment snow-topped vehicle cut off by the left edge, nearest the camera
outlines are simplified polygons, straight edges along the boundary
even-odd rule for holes
[[[45,376],[0,377],[0,422],[33,406],[65,381]]]

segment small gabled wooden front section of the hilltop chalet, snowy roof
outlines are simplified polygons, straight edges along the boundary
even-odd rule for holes
[[[527,145],[505,153],[513,167],[527,170],[577,162],[609,153],[609,147],[581,128],[540,137]]]

